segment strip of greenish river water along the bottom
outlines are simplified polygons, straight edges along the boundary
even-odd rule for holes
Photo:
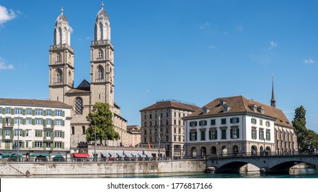
[[[25,178],[26,176],[0,176],[0,178]],[[318,178],[318,169],[293,169],[289,175],[266,175],[260,173],[154,173],[113,175],[52,175],[28,176],[28,178]]]

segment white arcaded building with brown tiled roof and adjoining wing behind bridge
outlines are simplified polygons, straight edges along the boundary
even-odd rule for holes
[[[284,113],[242,96],[214,99],[183,119],[187,132],[186,156],[262,155],[264,150],[273,155],[297,151],[297,137]],[[278,132],[284,132],[280,139],[277,139]]]

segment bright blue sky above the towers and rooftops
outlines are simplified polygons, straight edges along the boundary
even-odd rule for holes
[[[75,86],[90,81],[102,1],[0,0],[2,98],[49,97],[49,45],[63,7],[73,29]],[[275,99],[291,121],[307,111],[318,132],[318,1],[107,0],[115,47],[115,102],[128,125],[160,99],[204,106],[218,97]]]

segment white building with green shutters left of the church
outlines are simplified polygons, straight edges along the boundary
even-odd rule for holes
[[[0,99],[0,154],[69,156],[71,106],[59,101]]]

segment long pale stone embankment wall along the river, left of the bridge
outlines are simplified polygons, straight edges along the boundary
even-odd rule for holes
[[[205,160],[73,163],[0,163],[0,176],[24,175],[106,175],[135,173],[195,173],[205,171]]]

